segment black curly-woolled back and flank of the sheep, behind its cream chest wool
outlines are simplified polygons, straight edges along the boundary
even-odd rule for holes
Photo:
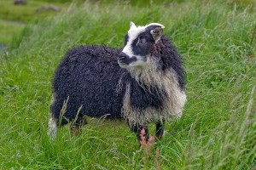
[[[119,52],[102,46],[81,46],[67,52],[53,81],[55,104],[51,111],[56,118],[67,98],[64,116],[68,119],[76,116],[80,106],[80,115],[121,117],[125,90],[117,87],[125,69],[118,65]]]

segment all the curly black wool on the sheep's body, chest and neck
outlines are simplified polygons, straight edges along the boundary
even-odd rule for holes
[[[97,45],[80,46],[67,52],[53,80],[55,99],[50,109],[57,123],[64,125],[73,122],[76,116],[81,118],[84,115],[123,117],[123,100],[128,83],[131,85],[131,105],[138,111],[148,107],[162,109],[165,94],[159,93],[161,89],[158,87],[143,88],[129,71],[119,67],[117,59],[120,52],[120,49]],[[183,68],[176,48],[166,37],[162,37],[151,53],[161,58],[158,63],[161,71],[172,68],[176,72],[179,87],[184,90]],[[67,109],[60,121],[61,108],[67,99]]]

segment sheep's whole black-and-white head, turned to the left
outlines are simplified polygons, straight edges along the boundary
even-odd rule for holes
[[[150,48],[160,40],[165,26],[151,23],[147,26],[130,24],[130,30],[125,35],[125,47],[119,54],[118,63],[122,68],[143,67],[148,64]]]

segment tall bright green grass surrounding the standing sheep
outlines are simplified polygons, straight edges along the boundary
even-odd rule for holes
[[[86,2],[29,22],[0,56],[0,168],[256,169],[255,10],[253,0]],[[166,124],[149,155],[119,122],[94,121],[74,138],[64,127],[50,142],[51,81],[61,58],[80,44],[121,48],[131,20],[166,26],[182,55],[183,116]]]

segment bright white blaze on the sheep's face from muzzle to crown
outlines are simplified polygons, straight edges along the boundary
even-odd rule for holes
[[[138,59],[140,58],[139,55],[135,55],[132,51],[131,45],[132,42],[143,32],[146,30],[148,26],[160,26],[164,28],[165,26],[160,25],[158,23],[151,23],[148,24],[147,26],[135,26],[133,22],[130,23],[130,30],[128,31],[128,42],[125,45],[125,48],[123,49],[123,53],[128,55],[130,58],[131,57],[137,57]]]

